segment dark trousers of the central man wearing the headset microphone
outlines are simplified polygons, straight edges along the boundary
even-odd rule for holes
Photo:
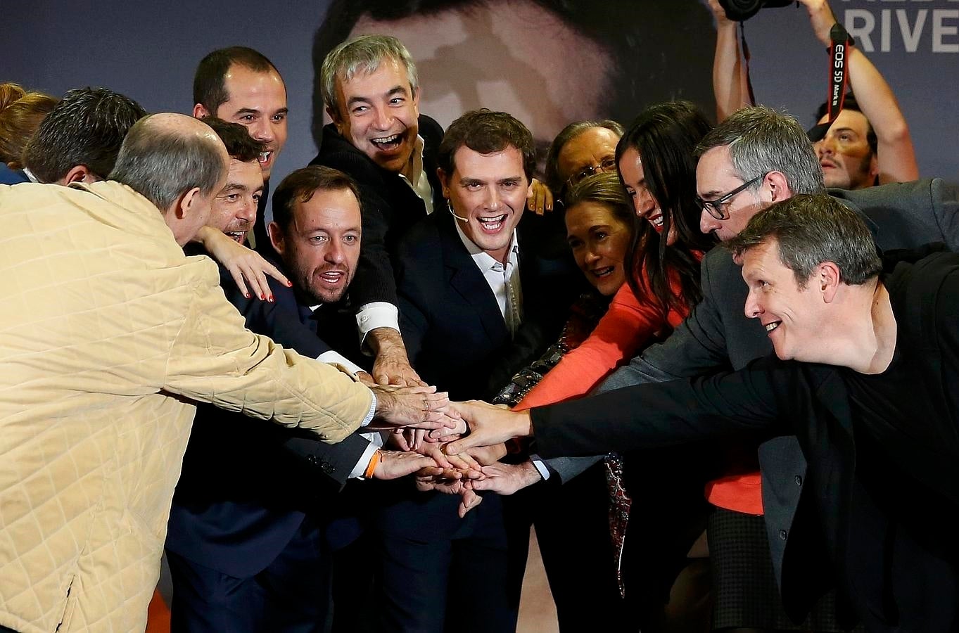
[[[378,529],[381,631],[516,629],[529,523],[509,501],[485,494],[462,520],[455,496],[424,493],[386,508]]]

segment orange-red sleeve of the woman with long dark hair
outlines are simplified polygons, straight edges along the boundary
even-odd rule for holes
[[[633,358],[664,325],[662,311],[640,304],[629,285],[623,284],[589,338],[567,352],[515,410],[585,395],[623,361]]]

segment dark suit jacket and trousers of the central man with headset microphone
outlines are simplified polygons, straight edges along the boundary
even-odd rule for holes
[[[490,397],[559,335],[572,302],[567,293],[578,289],[564,262],[539,256],[537,220],[525,214],[523,229],[518,228],[524,314],[512,339],[445,204],[413,227],[397,248],[400,328],[410,363],[424,381],[449,391],[452,399]],[[575,274],[582,276],[578,270]],[[384,551],[384,591],[400,597],[384,600],[383,627],[440,630],[442,622],[434,621],[443,620],[449,607],[465,615],[467,628],[515,629],[522,578],[513,562],[520,553],[515,548],[526,549],[529,526],[514,518],[506,507],[510,502],[485,495],[478,508],[460,519],[456,495],[416,492],[409,481],[379,488],[382,502],[375,514]],[[423,561],[434,561],[434,569]],[[453,574],[449,581],[447,574]],[[455,579],[460,577],[495,590],[459,604],[456,600],[464,597],[453,592],[459,591]],[[455,617],[450,613],[447,621]]]

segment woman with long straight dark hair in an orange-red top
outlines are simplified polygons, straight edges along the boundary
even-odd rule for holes
[[[625,255],[624,269],[633,273],[620,288],[611,285],[597,276],[604,270],[591,270],[591,246],[571,234],[579,268],[600,293],[615,296],[592,335],[529,391],[519,409],[585,395],[620,363],[667,335],[702,297],[699,260],[714,240],[699,231],[694,150],[710,128],[696,106],[673,102],[645,110],[620,139],[620,177],[646,221]]]

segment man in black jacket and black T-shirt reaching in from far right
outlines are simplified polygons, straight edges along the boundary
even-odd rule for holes
[[[450,450],[533,433],[547,455],[795,433],[809,465],[790,540],[819,547],[786,552],[786,604],[838,578],[870,631],[955,630],[959,255],[890,252],[883,267],[864,219],[821,194],[770,206],[730,243],[774,354],[530,416],[467,406],[484,424]]]

